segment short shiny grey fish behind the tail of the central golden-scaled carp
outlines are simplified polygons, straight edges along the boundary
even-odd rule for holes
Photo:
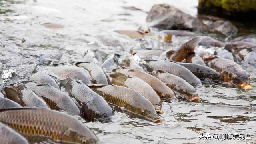
[[[75,65],[88,73],[93,84],[108,84],[106,74],[97,64],[93,62],[77,62]]]

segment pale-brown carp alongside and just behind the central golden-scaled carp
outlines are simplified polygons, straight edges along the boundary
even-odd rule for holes
[[[155,107],[156,112],[162,113],[162,101],[154,89],[146,82],[137,77],[124,76],[121,73],[114,72],[109,74],[111,77],[111,83],[117,86],[123,86],[130,88],[142,94],[147,98]]]

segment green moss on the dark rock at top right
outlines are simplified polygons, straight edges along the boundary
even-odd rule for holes
[[[201,8],[218,7],[228,12],[256,11],[256,0],[198,0]]]

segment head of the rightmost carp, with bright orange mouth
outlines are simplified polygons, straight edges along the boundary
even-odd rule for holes
[[[251,90],[252,86],[250,84],[250,75],[247,73],[240,73],[239,75],[232,75],[232,83],[237,85],[239,88],[243,90]]]

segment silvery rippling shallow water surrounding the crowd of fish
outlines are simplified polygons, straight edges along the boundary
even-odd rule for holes
[[[114,30],[136,30],[144,25],[153,4],[168,3],[196,16],[197,0],[0,0],[0,84],[26,79],[34,66],[80,62],[84,53],[96,50],[99,63],[116,52],[129,56],[140,41]],[[141,10],[127,10],[135,6]],[[49,29],[41,24],[62,24]],[[189,38],[173,38],[160,48],[178,48]],[[155,43],[146,43],[152,47]],[[164,103],[160,124],[116,112],[113,121],[85,123],[104,144],[246,143],[256,140],[256,68],[243,67],[251,75],[252,90],[242,92],[222,84],[203,82],[197,89],[201,103]],[[252,140],[199,140],[198,133],[251,134]]]

